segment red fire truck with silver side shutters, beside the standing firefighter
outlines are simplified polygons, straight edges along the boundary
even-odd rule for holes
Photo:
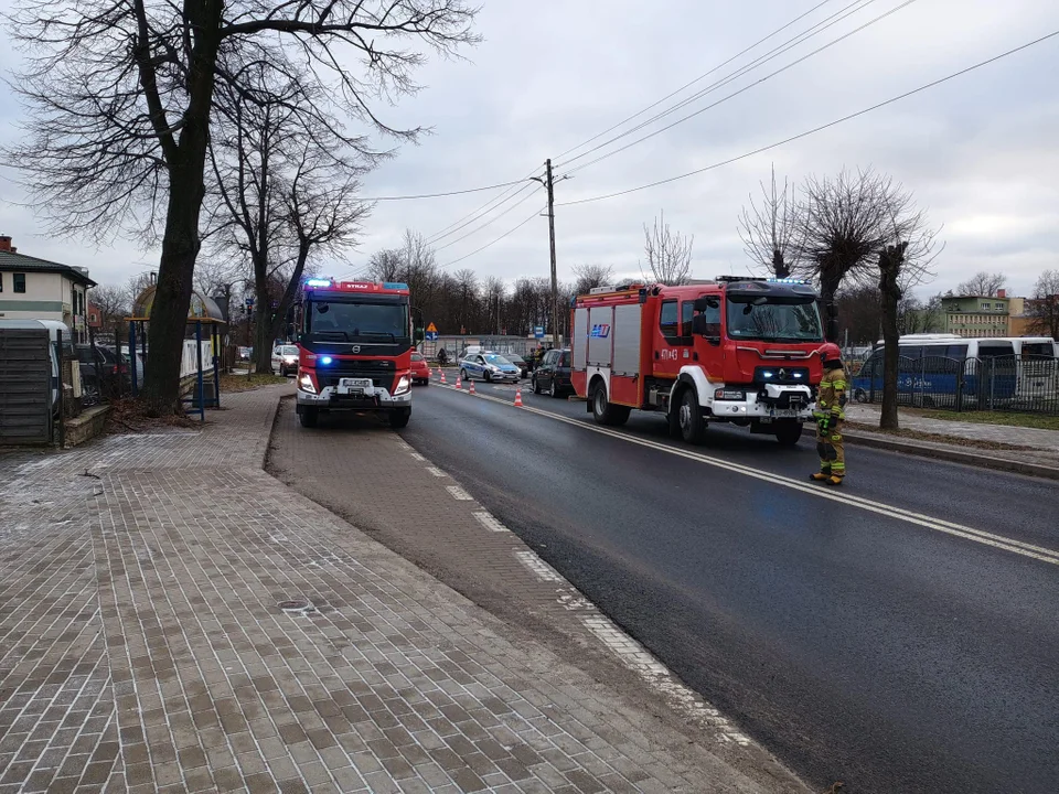
[[[803,281],[600,287],[575,299],[573,329],[574,388],[602,425],[638,408],[691,443],[725,421],[791,446],[812,419],[824,337]]]

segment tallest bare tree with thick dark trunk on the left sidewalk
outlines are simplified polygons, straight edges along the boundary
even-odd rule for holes
[[[244,68],[258,65],[321,86],[318,104],[292,106],[307,125],[334,107],[414,140],[421,129],[387,126],[372,100],[417,90],[425,56],[409,40],[443,55],[474,43],[474,13],[464,0],[20,0],[13,85],[28,135],[8,153],[31,196],[64,233],[161,238],[142,391],[152,412],[178,404],[217,85],[252,90]]]

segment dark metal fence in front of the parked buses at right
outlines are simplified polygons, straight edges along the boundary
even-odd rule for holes
[[[881,358],[873,360],[857,373],[851,372],[851,379],[856,401],[882,401]],[[1059,416],[1059,361],[1036,356],[901,356],[898,405]]]

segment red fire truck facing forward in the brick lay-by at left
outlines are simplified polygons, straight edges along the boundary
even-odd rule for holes
[[[298,418],[321,411],[383,411],[391,426],[411,417],[413,329],[408,285],[308,279],[298,340]]]

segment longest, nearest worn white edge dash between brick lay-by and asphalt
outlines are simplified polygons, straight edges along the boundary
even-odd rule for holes
[[[668,699],[674,706],[704,726],[718,731],[723,741],[748,745],[750,739],[725,719],[713,706],[681,684],[668,667],[652,656],[646,648],[619,629],[603,615],[585,615],[581,621],[592,634],[621,659],[649,686]]]

